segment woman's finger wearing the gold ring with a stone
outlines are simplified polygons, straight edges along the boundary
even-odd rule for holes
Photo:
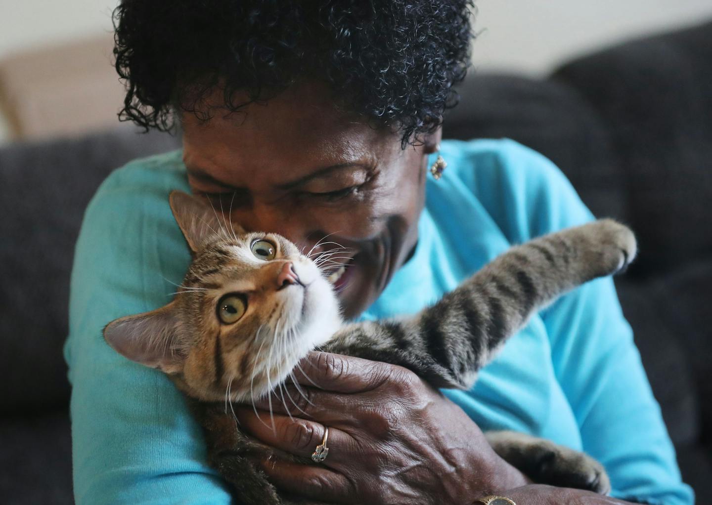
[[[259,412],[259,417],[252,410],[240,408],[236,411],[241,428],[261,442],[296,456],[310,458],[316,447],[323,442],[325,426],[319,422],[300,418],[290,419],[283,415]],[[274,429],[272,425],[274,421]],[[326,443],[329,453],[323,464],[337,469],[344,468],[344,462],[357,451],[354,439],[337,427],[329,427]]]

